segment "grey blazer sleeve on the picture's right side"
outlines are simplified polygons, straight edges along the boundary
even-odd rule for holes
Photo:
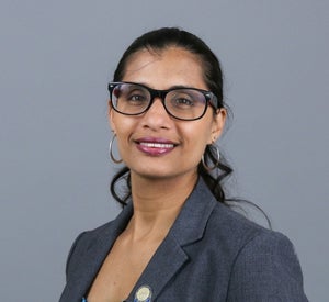
[[[227,301],[308,301],[299,261],[287,237],[263,232],[240,249],[232,267]]]

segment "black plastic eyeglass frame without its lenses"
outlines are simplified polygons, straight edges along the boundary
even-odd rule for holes
[[[124,112],[121,112],[118,111],[114,105],[113,105],[113,100],[112,100],[112,93],[113,93],[113,90],[115,89],[116,86],[118,85],[124,85],[124,83],[131,83],[131,85],[136,85],[136,86],[140,86],[143,88],[145,88],[149,94],[150,94],[150,101],[149,101],[149,104],[145,108],[145,110],[143,110],[141,112],[138,112],[138,113],[124,113]],[[181,89],[191,89],[191,90],[195,90],[195,91],[198,91],[201,92],[204,98],[205,98],[205,107],[204,107],[204,111],[203,113],[198,116],[198,118],[194,118],[194,119],[182,119],[182,118],[178,118],[175,115],[173,115],[166,107],[166,103],[164,103],[164,99],[166,99],[166,96],[171,92],[171,91],[174,91],[174,90],[181,90]],[[152,89],[152,88],[149,88],[143,83],[138,83],[138,82],[129,82],[129,81],[115,81],[115,82],[109,82],[107,85],[107,90],[110,92],[110,100],[111,100],[111,104],[112,104],[112,108],[121,113],[121,114],[124,114],[124,115],[140,115],[145,112],[147,112],[150,107],[152,105],[154,101],[155,101],[155,98],[160,98],[161,99],[161,102],[164,107],[164,110],[166,112],[177,119],[177,120],[181,120],[181,121],[195,121],[195,120],[200,120],[203,118],[203,115],[205,114],[208,105],[212,105],[215,110],[218,109],[218,101],[217,101],[217,97],[212,92],[212,91],[208,91],[208,90],[204,90],[204,89],[198,89],[198,88],[194,88],[194,87],[174,87],[174,88],[170,88],[170,89],[166,89],[166,90],[158,90],[158,89]]]

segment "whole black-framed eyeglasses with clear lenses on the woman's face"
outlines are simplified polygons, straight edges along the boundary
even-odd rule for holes
[[[125,115],[146,112],[155,98],[161,99],[168,114],[183,121],[201,119],[208,104],[217,108],[217,98],[213,92],[196,88],[156,90],[135,82],[110,82],[109,91],[113,109]]]

